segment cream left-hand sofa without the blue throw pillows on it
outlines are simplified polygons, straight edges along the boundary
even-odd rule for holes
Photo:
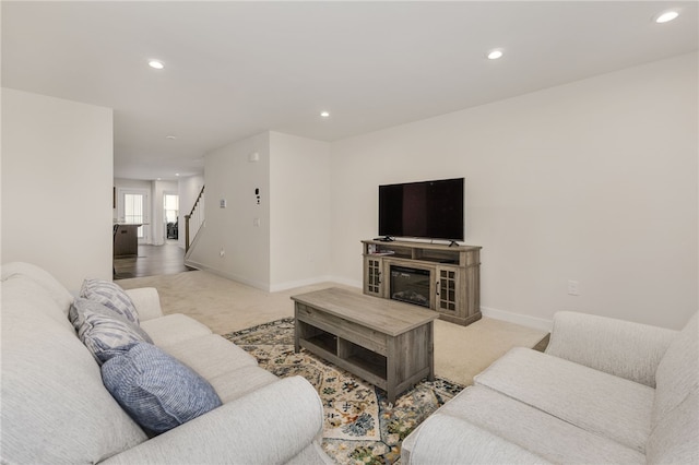
[[[68,319],[73,296],[42,269],[2,266],[3,464],[321,464],[322,405],[303,378],[280,380],[157,291],[127,291],[141,329],[214,388],[223,405],[152,439],[103,384]]]

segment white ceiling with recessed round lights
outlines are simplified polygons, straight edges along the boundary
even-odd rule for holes
[[[115,177],[175,179],[265,130],[333,141],[691,52],[697,7],[2,1],[2,85],[114,108]]]

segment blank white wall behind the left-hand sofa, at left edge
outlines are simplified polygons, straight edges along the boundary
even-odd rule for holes
[[[2,88],[2,263],[111,279],[112,111]]]

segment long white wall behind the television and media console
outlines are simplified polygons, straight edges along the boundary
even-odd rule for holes
[[[463,176],[484,314],[682,326],[698,308],[697,79],[692,53],[333,143],[333,274],[360,281],[379,184]]]

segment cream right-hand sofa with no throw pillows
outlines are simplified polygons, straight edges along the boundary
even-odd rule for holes
[[[699,326],[559,312],[404,441],[402,463],[699,463]]]

